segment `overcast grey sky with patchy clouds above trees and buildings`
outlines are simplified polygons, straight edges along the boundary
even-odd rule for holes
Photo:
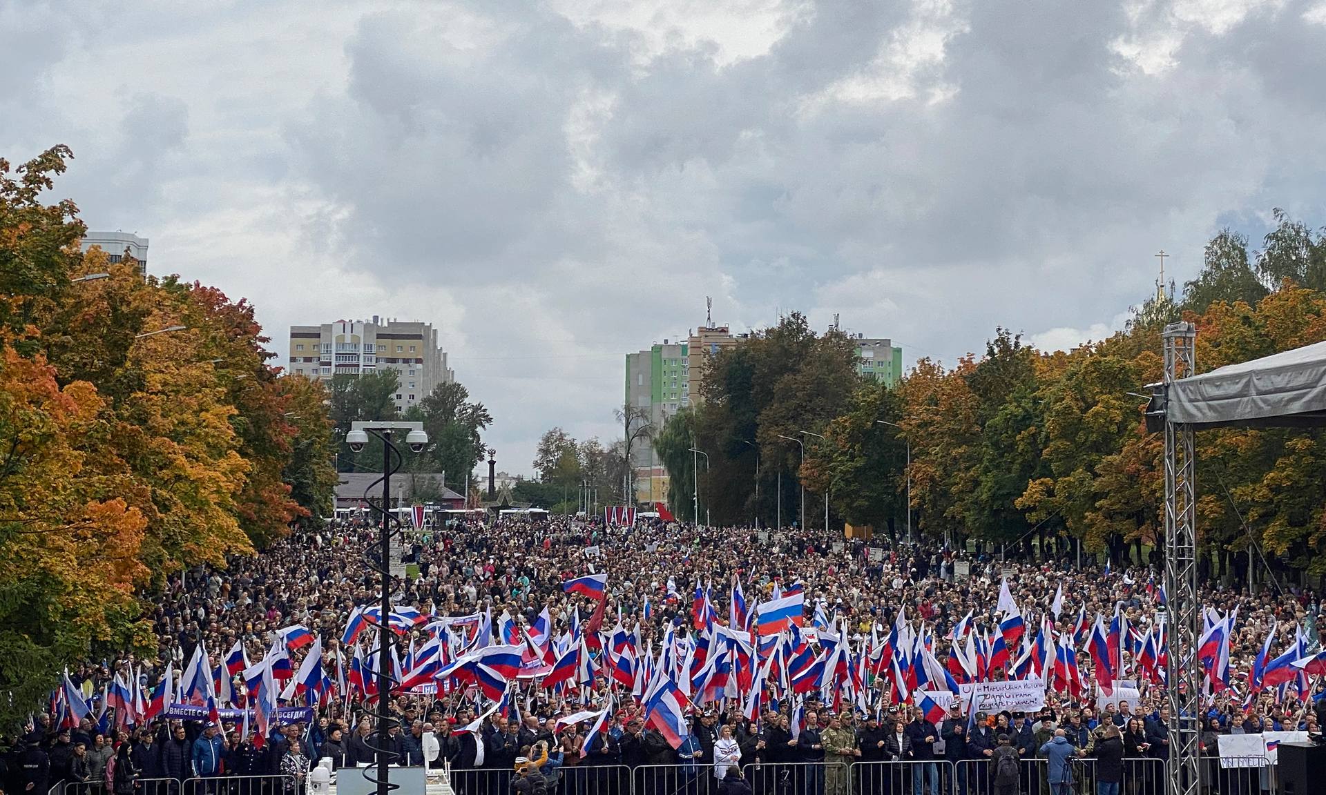
[[[496,420],[614,435],[623,354],[792,309],[907,362],[1116,329],[1326,223],[1326,0],[0,0],[0,156],[288,326],[431,321]]]

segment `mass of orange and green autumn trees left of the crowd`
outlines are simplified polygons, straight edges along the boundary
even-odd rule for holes
[[[321,519],[335,486],[322,387],[278,378],[245,301],[84,254],[77,207],[42,203],[70,156],[0,160],[0,727],[61,666],[154,645],[167,572]]]

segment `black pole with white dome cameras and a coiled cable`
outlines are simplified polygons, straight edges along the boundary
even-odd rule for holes
[[[378,620],[378,795],[387,795],[392,787],[389,784],[390,767],[385,753],[387,746],[387,726],[394,721],[387,705],[391,702],[391,624],[387,617],[391,615],[391,521],[399,521],[391,513],[391,473],[400,469],[403,461],[400,450],[391,444],[392,435],[403,435],[411,452],[423,452],[428,444],[428,435],[423,431],[423,423],[410,423],[400,420],[355,421],[350,424],[350,432],[345,435],[345,441],[351,452],[362,452],[369,444],[369,435],[382,440],[382,531],[378,534],[378,545],[382,555],[382,613]],[[396,465],[391,464],[391,454],[395,453]],[[373,484],[369,486],[371,489]],[[371,502],[369,504],[373,505]],[[367,778],[367,776],[365,776]],[[371,779],[370,779],[371,780]]]

